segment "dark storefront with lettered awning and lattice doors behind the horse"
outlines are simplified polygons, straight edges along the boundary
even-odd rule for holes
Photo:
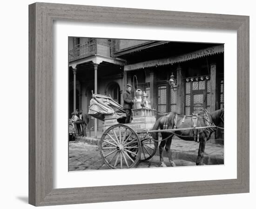
[[[159,111],[192,115],[207,109],[224,108],[223,45],[163,59],[148,60],[124,66],[128,81],[138,80],[138,88],[150,96]],[[169,79],[174,80],[169,85]],[[136,81],[136,79],[135,79]],[[136,83],[136,82],[135,82]],[[135,85],[136,88],[136,85]],[[223,132],[214,138],[223,138]]]

